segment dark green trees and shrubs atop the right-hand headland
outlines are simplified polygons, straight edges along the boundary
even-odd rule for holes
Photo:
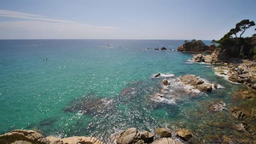
[[[255,26],[254,21],[242,20],[236,23],[235,28],[231,28],[223,38],[212,41],[212,43],[219,43],[219,47],[226,49],[230,57],[253,58],[256,57],[253,43],[255,43],[255,36],[243,38],[245,31]],[[255,29],[254,29],[255,30]]]

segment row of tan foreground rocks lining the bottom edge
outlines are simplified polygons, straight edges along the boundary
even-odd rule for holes
[[[173,135],[174,134],[174,135]],[[175,139],[179,138],[179,139]],[[177,129],[175,131],[168,130],[166,128],[156,128],[153,133],[148,131],[138,131],[137,128],[130,128],[115,134],[112,139],[112,143],[115,144],[142,144],[142,143],[183,143],[191,139],[193,135],[185,129]],[[2,144],[103,144],[101,140],[97,140],[95,137],[85,136],[72,136],[61,139],[55,136],[46,136],[37,133],[33,130],[13,130],[4,135],[0,135],[0,142]]]

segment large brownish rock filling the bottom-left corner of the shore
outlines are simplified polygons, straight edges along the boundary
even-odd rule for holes
[[[23,140],[28,142],[36,142],[43,136],[33,130],[13,130],[4,135],[0,135],[0,143],[14,142],[16,140]]]

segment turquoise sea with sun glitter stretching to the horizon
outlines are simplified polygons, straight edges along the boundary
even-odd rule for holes
[[[231,93],[244,86],[217,76],[210,65],[188,61],[192,53],[170,50],[183,41],[0,40],[0,134],[32,129],[107,142],[110,134],[132,127],[185,128],[195,137],[239,133],[204,124],[236,123],[228,111],[217,115],[207,107],[218,99],[229,107]],[[154,50],[162,46],[168,50]],[[158,73],[162,77],[154,78]],[[190,88],[176,81],[185,74],[221,87],[188,93]],[[171,82],[164,92],[162,79]]]

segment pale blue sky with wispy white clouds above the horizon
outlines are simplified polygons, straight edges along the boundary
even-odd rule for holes
[[[217,40],[243,19],[256,22],[255,7],[255,0],[0,0],[0,39]]]

